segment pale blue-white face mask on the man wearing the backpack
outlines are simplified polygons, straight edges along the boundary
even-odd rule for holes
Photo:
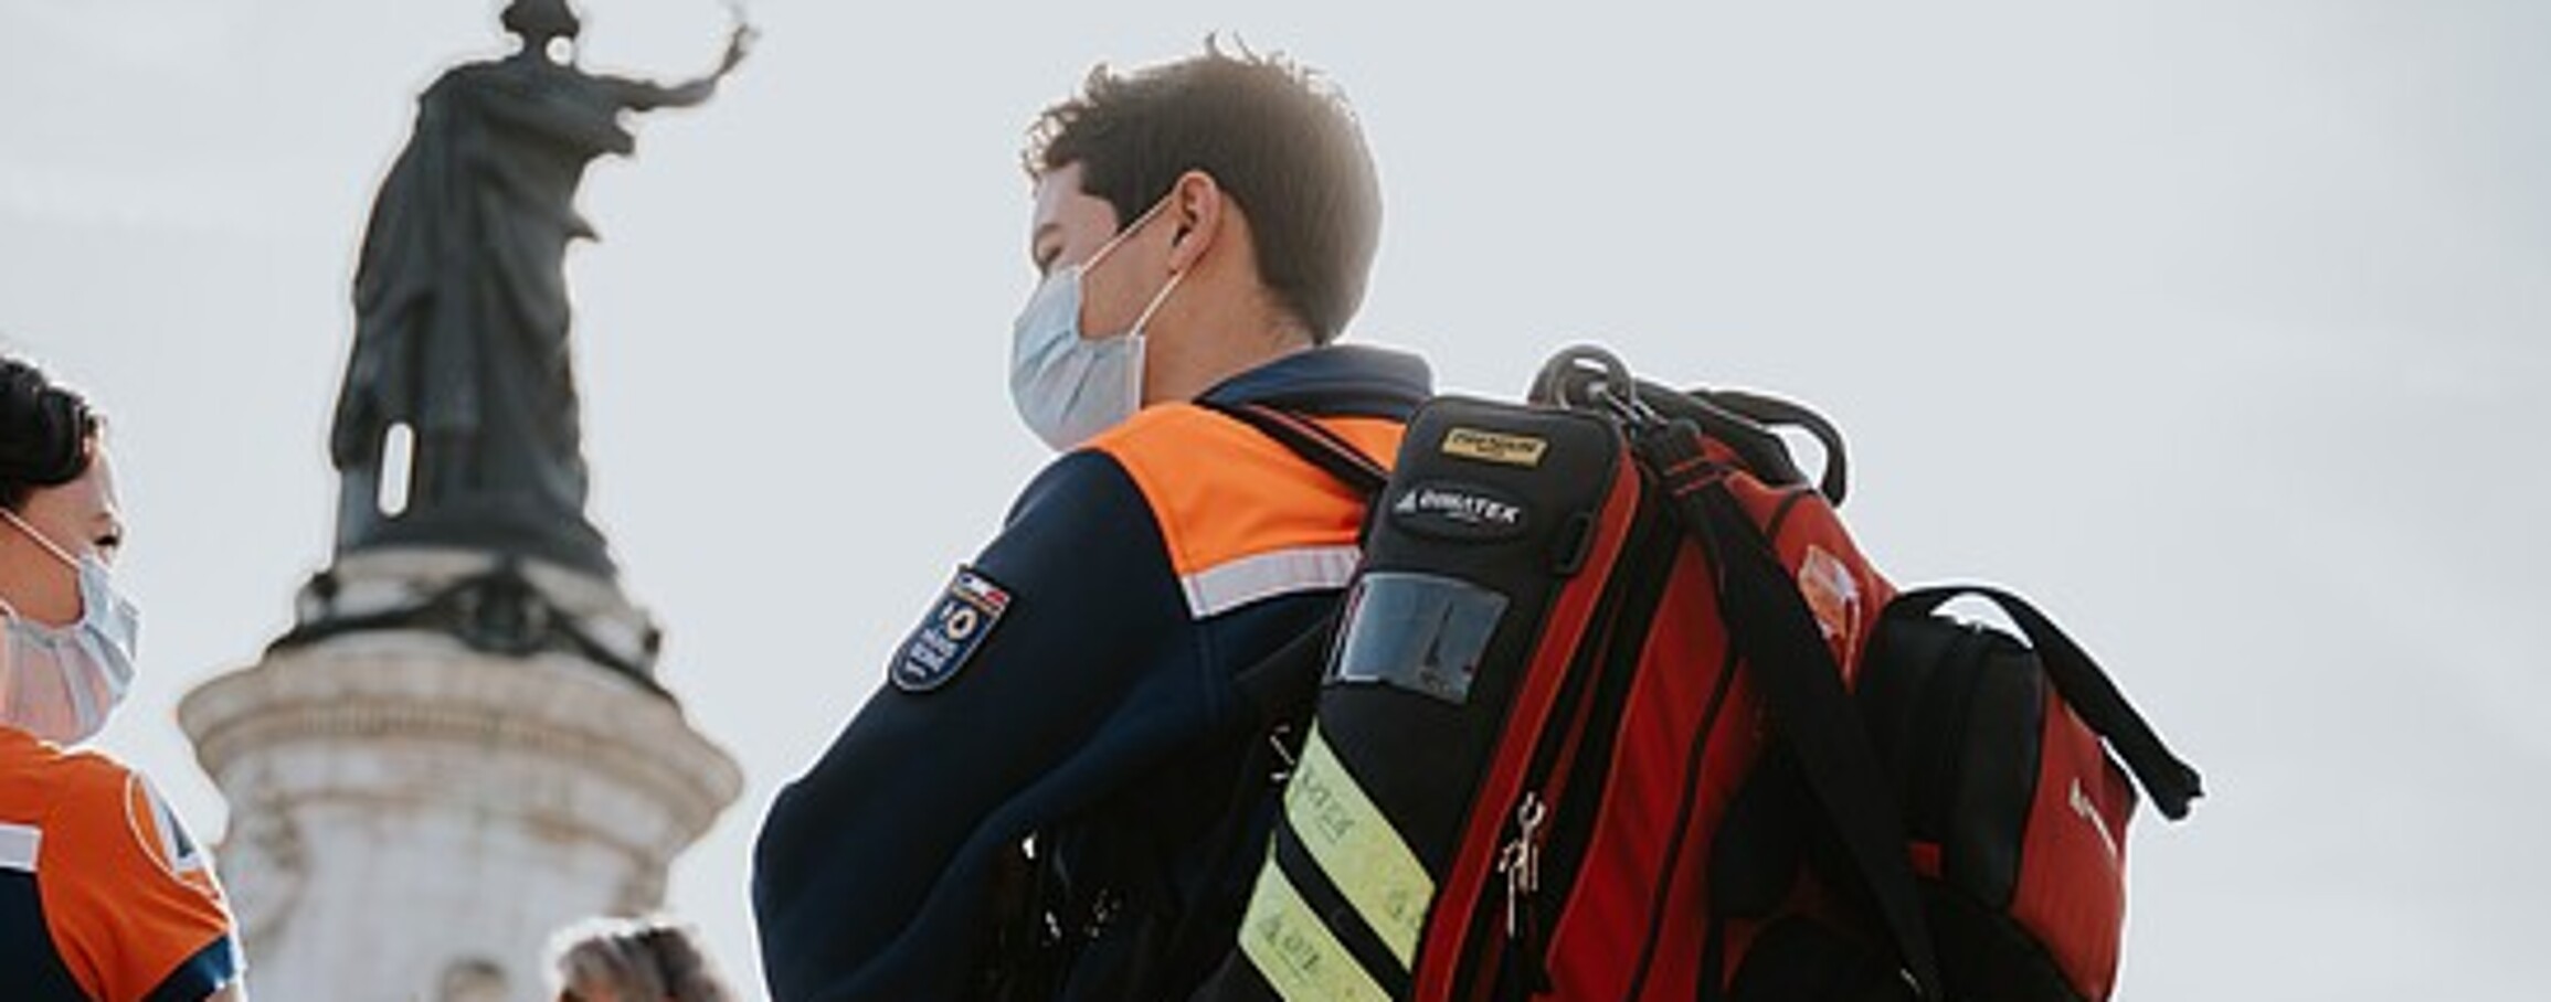
[[[1046,275],[1010,326],[1010,403],[1054,451],[1074,449],[1143,410],[1143,324],[1151,324],[1151,314],[1168,301],[1186,273],[1171,273],[1125,334],[1097,339],[1082,337],[1082,275],[1163,207],[1168,199],[1145,209],[1089,260]]]

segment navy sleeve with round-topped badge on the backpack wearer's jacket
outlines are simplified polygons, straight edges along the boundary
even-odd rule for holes
[[[969,581],[1003,602],[952,645],[944,614]],[[1087,803],[1092,734],[1145,678],[1202,665],[1151,507],[1094,451],[1028,484],[890,678],[921,648],[944,671],[934,688],[878,688],[763,821],[753,910],[781,1002],[962,997],[987,964],[1003,854]]]

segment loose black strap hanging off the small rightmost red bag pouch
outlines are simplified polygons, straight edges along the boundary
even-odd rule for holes
[[[1931,614],[1962,594],[1997,604],[2028,635],[2028,645],[2038,653],[2038,665],[2046,668],[2046,681],[2056,686],[2056,693],[2071,704],[2074,714],[2092,732],[2117,747],[2125,767],[2135,770],[2135,780],[2153,795],[2161,816],[2171,821],[2189,816],[2189,801],[2204,795],[2204,780],[2189,762],[2171,755],[2168,744],[2161,744],[2161,734],[2125,701],[2125,693],[2099,671],[2099,663],[2089,660],[2089,653],[2064,635],[2038,607],[2028,604],[2028,599],[1985,584],[1949,584],[1903,592],[1895,602]]]

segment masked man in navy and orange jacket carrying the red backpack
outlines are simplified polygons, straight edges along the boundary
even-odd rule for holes
[[[1380,184],[1316,74],[1207,51],[1089,74],[1031,133],[1010,395],[1061,451],[770,806],[773,997],[1179,999],[1230,951],[1276,762],[1245,668],[1316,635],[1431,393],[1334,344]]]

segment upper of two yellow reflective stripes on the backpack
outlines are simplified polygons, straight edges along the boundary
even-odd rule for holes
[[[1400,959],[1400,969],[1408,969],[1426,928],[1426,905],[1434,903],[1434,877],[1365,788],[1355,785],[1347,762],[1337,760],[1316,727],[1301,747],[1301,765],[1286,780],[1283,813],[1311,862],[1365,915],[1365,926]]]

